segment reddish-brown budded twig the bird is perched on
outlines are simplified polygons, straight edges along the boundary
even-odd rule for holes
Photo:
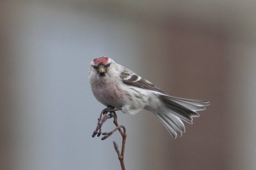
[[[118,159],[120,161],[120,166],[122,168],[122,170],[125,170],[125,164],[124,164],[124,151],[125,151],[125,141],[126,141],[126,130],[124,125],[118,125],[117,122],[117,116],[115,111],[118,111],[120,109],[115,109],[111,106],[109,106],[108,108],[104,109],[101,111],[100,113],[100,117],[98,118],[98,123],[97,123],[97,127],[95,129],[95,131],[92,134],[92,137],[95,137],[96,135],[99,137],[100,134],[103,135],[103,137],[101,138],[102,140],[107,139],[109,136],[111,136],[115,131],[119,131],[121,136],[122,136],[122,150],[121,152],[118,149],[118,145],[115,141],[113,141],[113,145],[115,148],[115,151],[118,155]],[[103,132],[101,133],[101,127],[104,124],[104,122],[106,122],[106,120],[108,120],[108,118],[112,118],[113,117],[113,123],[116,125],[116,128],[113,129],[113,131],[110,132]]]

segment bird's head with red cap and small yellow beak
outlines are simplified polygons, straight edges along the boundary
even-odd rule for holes
[[[92,60],[90,70],[99,76],[105,76],[108,73],[112,63],[113,60],[106,56],[97,57]]]

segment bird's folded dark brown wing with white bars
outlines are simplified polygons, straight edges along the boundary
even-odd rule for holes
[[[124,70],[120,74],[120,78],[123,83],[127,85],[132,85],[134,87],[140,87],[141,89],[153,90],[156,92],[160,92],[161,94],[166,94],[166,92],[156,87],[153,83],[144,78],[141,78],[127,68],[124,68]]]

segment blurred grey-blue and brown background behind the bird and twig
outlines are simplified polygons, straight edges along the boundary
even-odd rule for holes
[[[0,169],[120,169],[92,138],[88,82],[107,55],[172,96],[211,101],[182,138],[118,112],[127,169],[256,168],[256,1],[0,2]],[[111,121],[103,131],[113,129]]]

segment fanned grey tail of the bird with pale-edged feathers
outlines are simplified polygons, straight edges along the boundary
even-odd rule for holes
[[[181,120],[192,124],[193,117],[199,117],[197,111],[205,110],[205,106],[209,105],[209,101],[182,99],[166,95],[159,97],[167,110],[154,115],[164,124],[173,138],[176,138],[177,135],[181,136],[182,132],[185,132],[185,127]]]

